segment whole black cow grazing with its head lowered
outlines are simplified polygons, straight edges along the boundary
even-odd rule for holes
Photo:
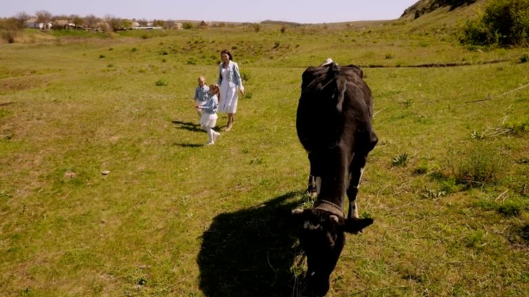
[[[359,67],[340,66],[330,59],[307,68],[302,76],[296,128],[309,153],[309,183],[315,181],[318,189],[313,208],[292,211],[309,266],[302,296],[324,296],[329,291],[344,232],[357,234],[373,223],[359,219],[355,202],[367,155],[378,141],[371,126],[371,90],[362,78]],[[345,193],[347,217],[342,210]]]

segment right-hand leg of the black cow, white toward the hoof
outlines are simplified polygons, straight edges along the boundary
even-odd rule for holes
[[[375,148],[377,142],[377,135],[375,135],[374,132],[371,132],[368,140],[365,142],[366,145],[357,149],[353,155],[353,160],[349,166],[349,186],[346,190],[347,199],[349,199],[349,210],[347,211],[347,217],[349,219],[353,216],[357,219],[360,218],[356,204],[358,187],[360,186],[360,179],[362,179],[362,173],[364,173],[364,167],[366,166],[367,155],[373,150],[373,148]]]

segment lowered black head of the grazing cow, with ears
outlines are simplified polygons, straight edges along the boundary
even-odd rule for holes
[[[345,245],[345,232],[362,232],[373,219],[345,219],[319,208],[296,209],[292,215],[299,225],[300,243],[309,266],[301,295],[325,296],[329,291],[329,276]]]

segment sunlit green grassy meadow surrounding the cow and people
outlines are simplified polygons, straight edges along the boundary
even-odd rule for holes
[[[225,48],[247,94],[203,146],[191,98]],[[375,22],[25,31],[0,52],[0,296],[292,296],[295,111],[327,57],[363,67],[380,138],[357,199],[375,223],[327,296],[529,295],[528,49]]]

